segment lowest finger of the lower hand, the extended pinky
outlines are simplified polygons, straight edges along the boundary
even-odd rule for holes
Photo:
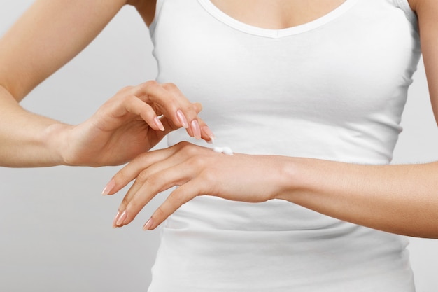
[[[188,181],[188,183],[184,183],[182,186],[176,188],[176,190],[164,200],[161,206],[158,207],[148,222],[143,225],[143,230],[153,230],[157,228],[158,225],[163,223],[163,221],[178,210],[179,207],[186,202],[189,202],[194,197],[197,197],[197,195],[201,195],[201,193],[197,191],[197,188],[199,188],[199,182],[197,183],[197,179]]]

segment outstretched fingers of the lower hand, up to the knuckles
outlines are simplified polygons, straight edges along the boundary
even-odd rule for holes
[[[139,155],[120,169],[108,183],[111,190],[106,193],[117,193],[129,181],[136,180],[118,208],[113,227],[129,224],[155,195],[171,187],[179,186],[155,212],[153,226],[160,224],[182,204],[202,193],[199,190],[208,179],[201,179],[200,174],[206,165],[211,164],[206,159],[207,153],[211,153],[209,148],[181,142],[166,149]]]

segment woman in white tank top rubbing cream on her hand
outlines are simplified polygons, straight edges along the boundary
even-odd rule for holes
[[[153,1],[136,1],[150,25],[159,83],[120,90],[74,127],[26,113],[16,101],[124,3],[50,2],[36,2],[2,40],[1,116],[14,122],[2,123],[8,143],[0,160],[131,161],[104,190],[136,179],[118,227],[156,193],[179,186],[145,224],[153,229],[174,213],[150,291],[414,290],[406,242],[394,234],[437,237],[437,164],[387,164],[419,34],[436,107],[433,1],[169,0],[156,11]],[[50,24],[42,21],[48,15]],[[196,140],[177,144],[181,131],[169,134],[174,146],[141,154],[177,127],[212,140],[199,104],[181,92],[202,102],[216,144],[234,155]],[[26,145],[20,157],[17,145]]]

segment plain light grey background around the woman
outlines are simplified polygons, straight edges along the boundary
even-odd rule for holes
[[[0,34],[31,4],[1,0]],[[97,39],[24,99],[22,105],[65,123],[80,123],[125,85],[155,78],[148,29],[125,7]],[[423,65],[404,112],[394,163],[438,160]],[[113,230],[123,195],[100,195],[120,167],[0,167],[0,291],[146,291],[159,231],[143,232],[165,194],[136,221]],[[437,178],[438,179],[438,178]],[[438,291],[438,242],[411,239],[419,292]]]

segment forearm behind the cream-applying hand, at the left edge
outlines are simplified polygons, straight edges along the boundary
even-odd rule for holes
[[[62,165],[61,129],[69,127],[22,109],[0,86],[0,165],[46,167]]]

